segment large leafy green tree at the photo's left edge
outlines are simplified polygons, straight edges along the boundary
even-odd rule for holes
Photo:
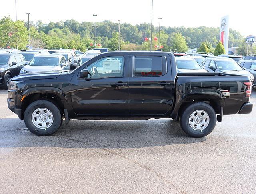
[[[10,36],[9,36],[10,35]],[[10,46],[19,49],[28,44],[28,31],[21,20],[12,21],[10,17],[0,20],[0,47]]]

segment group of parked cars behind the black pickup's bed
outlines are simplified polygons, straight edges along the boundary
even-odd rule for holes
[[[219,72],[248,76],[256,86],[256,57],[239,56],[236,54],[214,56],[210,53],[174,53],[178,73],[188,72]]]

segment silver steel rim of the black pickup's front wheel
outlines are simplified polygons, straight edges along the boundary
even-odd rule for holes
[[[38,108],[32,114],[32,122],[37,128],[45,130],[53,123],[52,112],[47,108]]]

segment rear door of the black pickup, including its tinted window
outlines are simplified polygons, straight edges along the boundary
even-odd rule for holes
[[[131,55],[130,114],[164,115],[173,104],[173,83],[168,54]]]

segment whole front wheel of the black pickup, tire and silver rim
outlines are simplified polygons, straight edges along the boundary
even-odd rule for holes
[[[24,112],[24,122],[30,132],[47,136],[56,132],[62,124],[58,107],[47,100],[32,102]]]

